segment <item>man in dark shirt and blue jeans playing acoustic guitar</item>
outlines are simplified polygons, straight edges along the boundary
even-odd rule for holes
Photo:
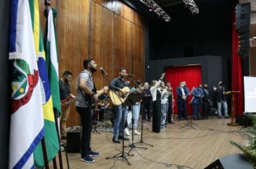
[[[124,77],[127,75],[127,71],[124,68],[119,69],[119,77],[116,77],[112,80],[109,88],[111,90],[115,90],[116,92],[120,92],[122,95],[127,95],[127,92],[123,90],[124,87],[127,87],[128,84],[124,80]],[[123,105],[116,105],[115,107],[115,119],[114,119],[114,136],[112,141],[114,143],[121,143],[118,139],[129,140],[127,137],[123,137],[124,132],[124,124],[123,122],[127,118],[127,110],[128,107]]]

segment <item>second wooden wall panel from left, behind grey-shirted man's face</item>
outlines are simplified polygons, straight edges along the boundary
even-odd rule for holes
[[[95,59],[98,68],[103,67],[108,72],[108,77],[113,77],[114,13],[94,1],[91,5],[90,34],[90,57]],[[107,85],[101,71],[97,71],[94,76],[97,89]]]

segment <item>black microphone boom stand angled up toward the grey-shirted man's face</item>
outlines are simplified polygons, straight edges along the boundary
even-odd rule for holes
[[[106,82],[109,84],[110,86],[110,82],[109,82],[109,79],[106,78],[106,74],[104,74],[104,72],[102,72],[102,75],[104,77],[104,79],[106,80]],[[113,90],[113,92],[116,94],[116,96],[118,97],[118,99],[122,102],[121,98],[119,97],[119,95],[116,93],[115,90]],[[126,107],[124,107],[124,102],[122,102],[122,107],[126,109]],[[123,120],[122,120],[122,130],[124,130],[124,110],[122,110],[122,116],[123,116]],[[112,157],[109,157],[109,158],[106,158],[106,160],[108,159],[111,159],[111,158],[124,158],[124,160],[127,161],[127,163],[129,165],[131,165],[131,163],[129,163],[129,160],[127,159],[127,156],[133,156],[133,155],[130,155],[129,153],[125,153],[124,152],[124,131],[123,131],[123,139],[122,139],[122,152],[121,153],[118,153]]]

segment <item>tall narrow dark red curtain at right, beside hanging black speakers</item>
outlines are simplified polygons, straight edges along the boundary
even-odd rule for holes
[[[234,95],[234,115],[242,115],[244,111],[244,97],[243,97],[243,81],[242,81],[242,64],[241,57],[237,54],[239,38],[235,25],[235,6],[233,1],[233,16],[232,16],[232,90],[240,91],[239,94]]]

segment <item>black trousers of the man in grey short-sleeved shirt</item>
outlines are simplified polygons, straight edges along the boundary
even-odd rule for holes
[[[81,117],[82,137],[81,137],[81,156],[82,158],[89,154],[91,150],[91,129],[93,122],[93,111],[88,107],[76,107],[76,111]]]

